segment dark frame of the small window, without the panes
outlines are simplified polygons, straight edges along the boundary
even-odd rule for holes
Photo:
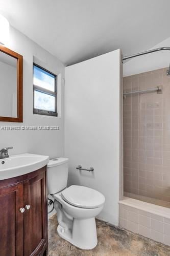
[[[35,86],[34,84],[34,66],[46,71],[47,73],[52,74],[53,76],[55,76],[55,91],[52,92],[50,90],[44,89],[40,86]],[[55,112],[54,111],[48,111],[48,110],[41,110],[41,109],[35,109],[34,108],[34,91],[38,91],[41,93],[45,93],[51,96],[55,97]],[[38,115],[46,115],[46,116],[58,116],[57,113],[57,75],[52,73],[51,71],[48,71],[46,69],[44,69],[43,67],[39,66],[38,64],[36,64],[35,62],[33,62],[33,114],[38,114]]]

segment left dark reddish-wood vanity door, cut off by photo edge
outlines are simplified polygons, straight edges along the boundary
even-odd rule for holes
[[[0,254],[23,256],[23,183],[0,188]]]

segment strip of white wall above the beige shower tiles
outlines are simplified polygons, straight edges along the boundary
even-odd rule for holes
[[[151,49],[165,46],[170,47],[170,37],[160,42],[156,46],[152,47]],[[134,52],[134,54],[135,53],[136,52]],[[166,68],[169,66],[169,61],[170,51],[167,50],[135,57],[127,62],[124,61],[124,76],[130,76],[151,70]]]

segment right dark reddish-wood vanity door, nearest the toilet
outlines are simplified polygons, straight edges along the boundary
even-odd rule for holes
[[[24,255],[37,255],[46,242],[45,168],[41,174],[24,182]],[[30,209],[28,206],[30,206]]]

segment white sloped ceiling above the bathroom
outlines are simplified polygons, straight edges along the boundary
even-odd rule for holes
[[[169,9],[169,0],[0,0],[10,24],[66,66],[152,48],[170,36]]]

